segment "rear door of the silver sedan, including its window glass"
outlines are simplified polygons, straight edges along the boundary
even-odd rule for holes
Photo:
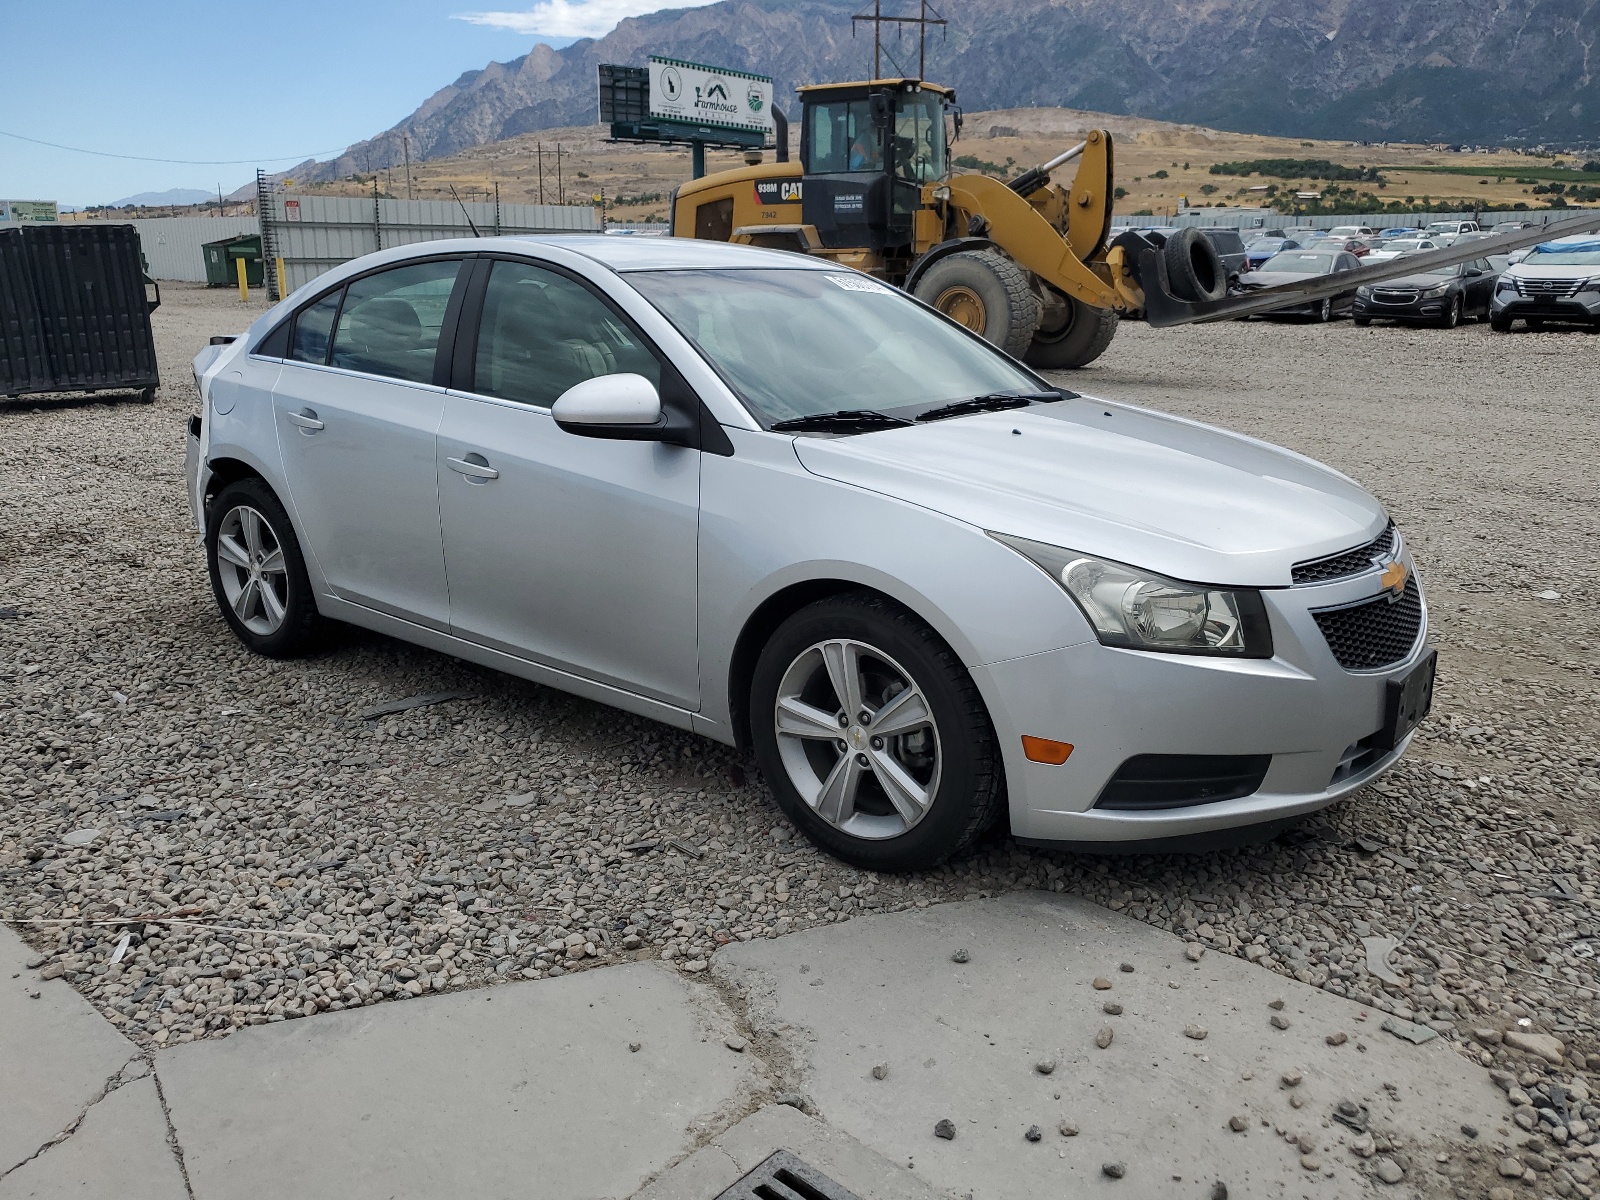
[[[459,267],[394,267],[306,309],[272,392],[290,496],[330,587],[435,629],[450,627],[450,594],[434,370]]]

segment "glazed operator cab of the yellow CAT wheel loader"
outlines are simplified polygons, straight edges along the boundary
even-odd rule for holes
[[[800,88],[802,213],[822,245],[910,253],[923,184],[950,174],[955,93],[912,78]]]

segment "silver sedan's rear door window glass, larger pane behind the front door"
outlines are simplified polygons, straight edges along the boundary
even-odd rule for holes
[[[346,288],[333,365],[350,371],[434,381],[438,331],[461,262],[413,262],[366,275]]]

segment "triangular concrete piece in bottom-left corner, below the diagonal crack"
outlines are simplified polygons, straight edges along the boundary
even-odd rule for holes
[[[0,1200],[69,1197],[187,1200],[155,1080],[122,1085],[83,1115],[70,1138],[0,1179]]]

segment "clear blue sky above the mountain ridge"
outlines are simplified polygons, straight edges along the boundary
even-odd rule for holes
[[[512,0],[506,11],[475,11],[474,0],[6,0],[0,131],[123,155],[248,162],[128,162],[0,136],[0,197],[86,205],[219,182],[230,192],[256,165],[283,170],[389,128],[462,70],[694,3]]]

